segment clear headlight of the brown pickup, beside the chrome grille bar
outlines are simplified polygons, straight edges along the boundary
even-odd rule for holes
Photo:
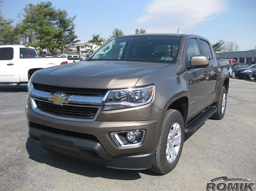
[[[150,103],[154,97],[155,86],[112,90],[106,99],[103,111],[119,110]]]

